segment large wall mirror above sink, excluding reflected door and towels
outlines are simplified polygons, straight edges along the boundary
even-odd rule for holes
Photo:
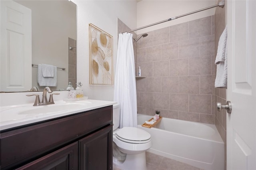
[[[30,88],[37,87],[39,91],[44,89],[38,85],[37,65],[41,63],[58,67],[57,86],[51,87],[52,90],[64,90],[68,87],[68,82],[72,82],[73,87],[76,88],[76,4],[68,0],[14,0],[14,2],[31,9],[32,84]],[[3,63],[2,56],[0,62]],[[27,90],[30,89],[24,91]],[[10,91],[3,91],[1,88],[1,92]]]

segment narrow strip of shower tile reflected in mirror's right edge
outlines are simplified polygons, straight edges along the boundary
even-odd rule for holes
[[[76,40],[68,38],[68,82],[76,89],[76,48],[69,47],[76,47]]]

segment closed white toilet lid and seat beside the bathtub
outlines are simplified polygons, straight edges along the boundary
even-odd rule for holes
[[[123,127],[116,132],[116,137],[128,143],[147,143],[151,140],[148,132],[136,127]]]

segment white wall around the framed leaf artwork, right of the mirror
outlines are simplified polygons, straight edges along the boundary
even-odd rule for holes
[[[116,70],[117,18],[130,28],[136,27],[136,1],[73,0],[77,14],[77,81],[81,81],[84,95],[89,99],[112,101],[114,85],[89,85],[89,24],[92,23],[113,36],[113,69]]]

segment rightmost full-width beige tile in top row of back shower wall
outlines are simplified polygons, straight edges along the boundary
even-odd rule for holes
[[[212,17],[204,17],[189,22],[189,38],[210,36],[212,34]]]

